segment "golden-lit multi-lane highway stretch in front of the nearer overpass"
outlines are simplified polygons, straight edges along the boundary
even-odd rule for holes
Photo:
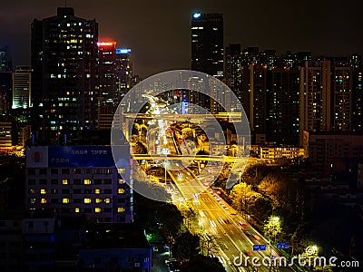
[[[199,214],[201,232],[204,229],[211,238],[211,243],[216,244],[209,253],[218,257],[227,271],[271,271],[270,267],[254,267],[250,262],[252,257],[259,257],[258,263],[262,264],[263,257],[270,259],[271,256],[277,256],[277,252],[270,248],[265,238],[218,194],[205,187],[201,190],[202,182],[194,179],[190,170],[169,170],[169,174],[180,191],[178,197],[174,198],[175,204],[179,207],[187,205]],[[181,198],[180,194],[185,198]],[[253,245],[266,245],[266,250],[253,251]],[[234,262],[239,264],[240,257],[242,264],[236,266]],[[280,267],[280,271],[292,270],[289,267]]]

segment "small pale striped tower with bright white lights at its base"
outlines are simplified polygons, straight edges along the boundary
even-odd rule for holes
[[[29,66],[16,66],[13,73],[13,109],[32,106],[32,71]]]

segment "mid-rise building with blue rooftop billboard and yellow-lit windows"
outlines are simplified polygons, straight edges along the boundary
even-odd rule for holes
[[[130,154],[129,146],[120,152]],[[27,147],[25,208],[130,223],[131,161],[116,168],[110,146]]]

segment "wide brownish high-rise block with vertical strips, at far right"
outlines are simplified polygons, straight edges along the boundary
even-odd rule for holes
[[[300,131],[351,131],[353,73],[343,59],[300,69]],[[301,134],[300,134],[301,140]]]

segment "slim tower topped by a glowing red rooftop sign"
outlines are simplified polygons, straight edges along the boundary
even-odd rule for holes
[[[98,43],[98,79],[99,99],[106,104],[113,104],[116,97],[116,42]]]

